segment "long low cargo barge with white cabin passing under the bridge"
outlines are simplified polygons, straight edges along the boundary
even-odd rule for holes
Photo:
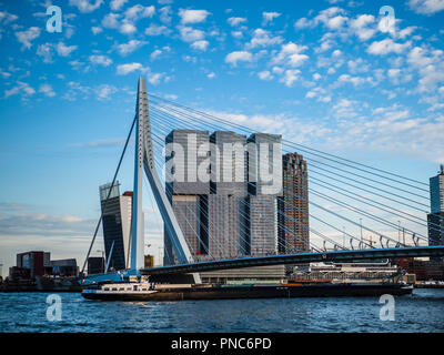
[[[276,284],[276,285],[153,285],[149,283],[101,284],[83,290],[94,301],[195,301],[292,297],[360,297],[407,295],[412,286],[395,283]]]

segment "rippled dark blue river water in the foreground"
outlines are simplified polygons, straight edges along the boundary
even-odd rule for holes
[[[379,297],[105,303],[60,293],[58,313],[48,296],[0,293],[0,332],[444,332],[444,290],[395,297],[394,321],[380,318]]]

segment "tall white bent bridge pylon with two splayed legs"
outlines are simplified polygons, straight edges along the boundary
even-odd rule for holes
[[[151,190],[178,261],[181,264],[192,263],[194,261],[193,256],[155,170],[145,78],[139,78],[135,115],[134,192],[132,202],[133,219],[131,225],[130,268],[131,271],[139,271],[144,267],[144,229],[142,214],[143,171],[150,182]],[[193,276],[194,282],[200,283],[199,274],[193,274]]]

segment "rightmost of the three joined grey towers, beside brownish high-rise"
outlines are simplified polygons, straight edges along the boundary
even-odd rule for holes
[[[282,138],[254,133],[246,148],[248,191],[242,209],[243,253],[270,255],[278,252],[278,203],[282,195]]]

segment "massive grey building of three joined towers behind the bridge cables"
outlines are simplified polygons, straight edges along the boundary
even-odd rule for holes
[[[167,195],[195,260],[276,253],[280,135],[175,130],[165,144]],[[175,263],[167,230],[164,245]]]

